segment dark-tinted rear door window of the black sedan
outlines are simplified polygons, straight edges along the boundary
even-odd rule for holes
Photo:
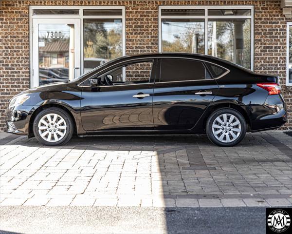
[[[200,61],[190,59],[162,59],[160,82],[210,79]]]

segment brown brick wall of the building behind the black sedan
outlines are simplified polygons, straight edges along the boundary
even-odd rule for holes
[[[29,5],[126,6],[126,54],[158,52],[159,5],[255,5],[255,71],[278,74],[292,129],[292,87],[286,87],[286,22],[280,0],[94,1],[2,0],[0,10],[0,129],[9,99],[29,88]]]

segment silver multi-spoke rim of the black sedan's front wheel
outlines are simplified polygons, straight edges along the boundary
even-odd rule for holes
[[[66,121],[57,114],[43,116],[38,122],[38,133],[48,142],[56,142],[65,137],[67,130]]]

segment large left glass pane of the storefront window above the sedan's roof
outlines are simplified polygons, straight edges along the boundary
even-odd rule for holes
[[[179,31],[171,32],[169,37],[174,37],[174,40],[163,38],[163,52],[185,52],[204,54],[204,23],[166,22],[165,27],[168,25],[184,28],[184,30],[182,33],[179,34],[177,34]],[[165,30],[163,34],[164,33],[167,34],[167,30]]]

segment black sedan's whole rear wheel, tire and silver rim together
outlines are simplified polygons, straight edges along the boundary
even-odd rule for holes
[[[208,138],[219,146],[237,145],[246,134],[244,117],[232,108],[216,110],[206,123]]]

